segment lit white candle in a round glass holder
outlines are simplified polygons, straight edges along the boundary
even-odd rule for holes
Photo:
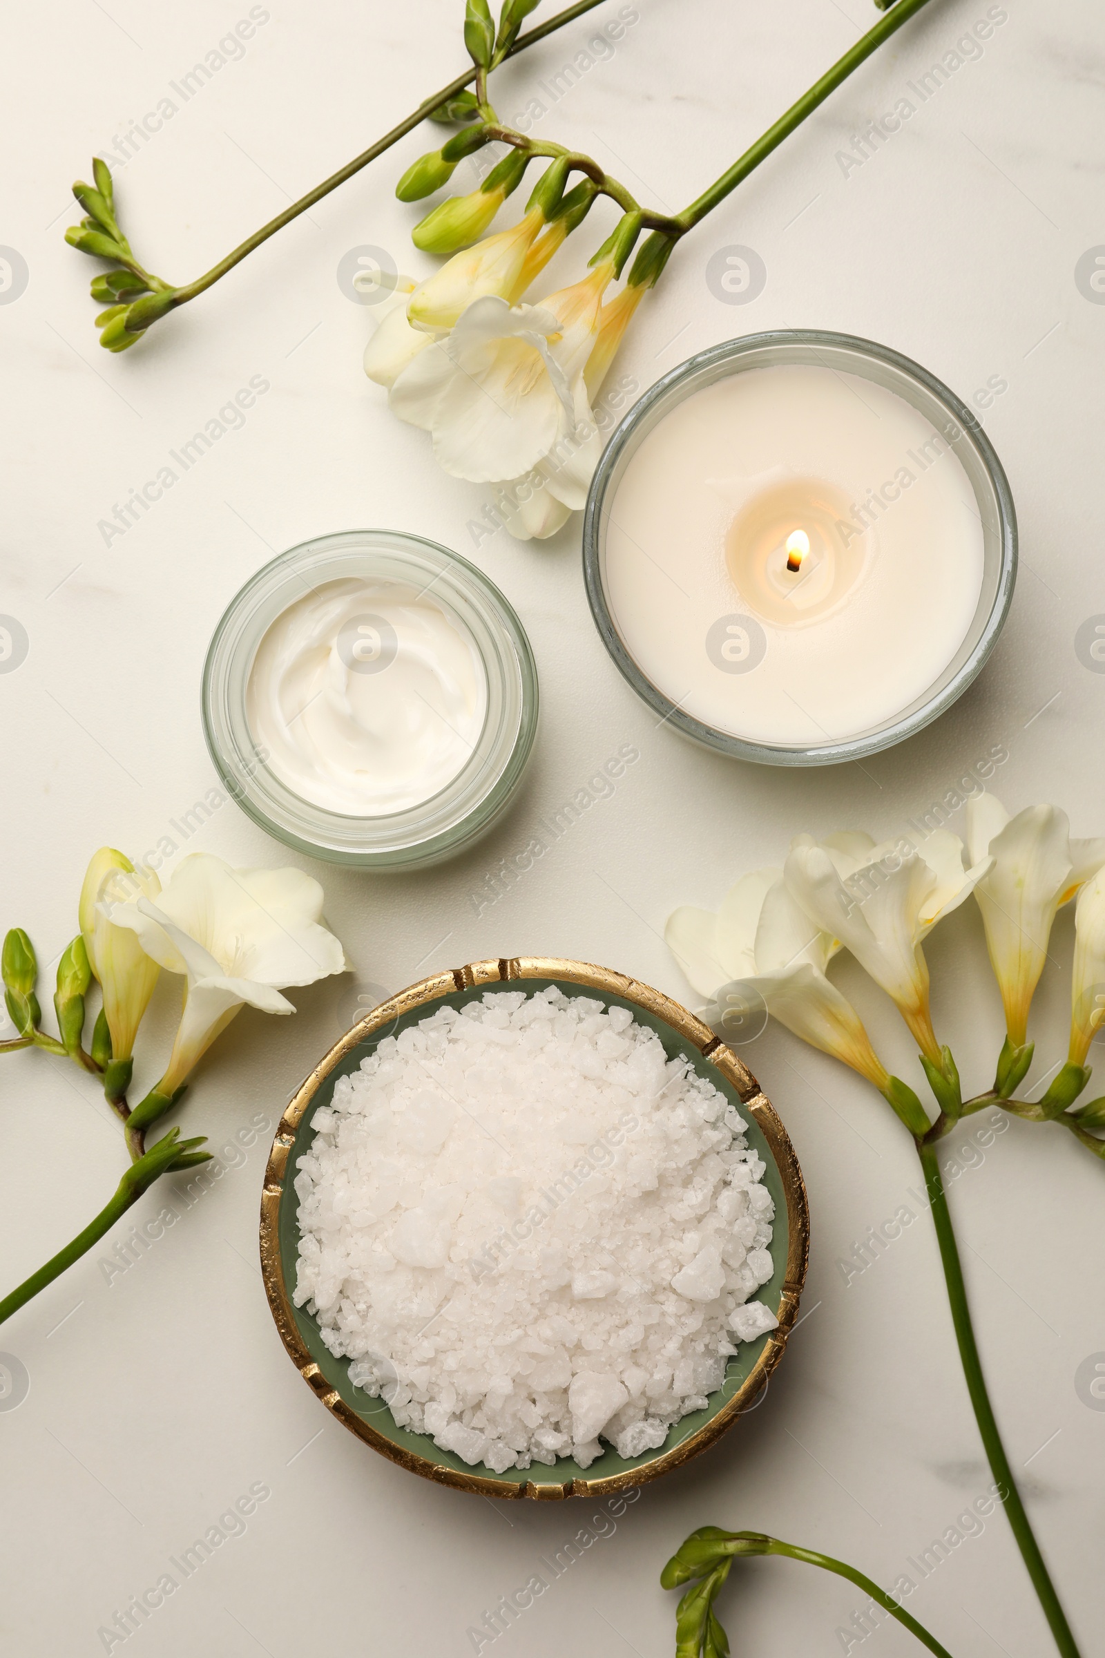
[[[1006,620],[1009,482],[971,410],[888,347],[782,330],[701,351],[630,410],[583,524],[633,690],[774,766],[861,759],[963,695]]]

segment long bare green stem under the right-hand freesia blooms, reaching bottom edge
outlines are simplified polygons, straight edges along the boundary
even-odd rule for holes
[[[900,0],[900,3],[905,5],[908,0]],[[926,1146],[923,1141],[918,1141],[918,1157],[921,1159],[924,1187],[929,1195],[933,1224],[939,1242],[939,1258],[944,1267],[948,1300],[951,1303],[951,1320],[956,1328],[956,1341],[959,1343],[963,1373],[966,1376],[967,1393],[971,1394],[974,1418],[979,1424],[979,1434],[982,1436],[982,1446],[986,1447],[991,1472],[994,1474],[994,1481],[1002,1494],[1012,1535],[1017,1540],[1021,1557],[1024,1559],[1029,1577],[1032,1578],[1032,1587],[1035,1588],[1040,1607],[1044,1608],[1044,1617],[1047,1618],[1055,1646],[1062,1653],[1062,1658],[1078,1658],[1075,1638],[1070,1633],[1070,1625],[1067,1623],[1064,1608],[1059,1603],[1059,1595],[1055,1593],[1055,1587],[1047,1573],[1044,1555],[1040,1554],[1039,1544],[1032,1534],[1032,1525],[1029,1524],[1029,1515],[1024,1510],[1021,1492],[1017,1491],[1017,1482],[1012,1476],[1009,1457],[1006,1456],[1006,1447],[1001,1442],[994,1408],[989,1401],[989,1393],[986,1391],[982,1363],[979,1360],[974,1328],[971,1325],[967,1290],[963,1282],[963,1263],[959,1260],[956,1234],[953,1230],[951,1212],[948,1209],[948,1194],[944,1192],[944,1182],[939,1176],[939,1161],[934,1147]]]

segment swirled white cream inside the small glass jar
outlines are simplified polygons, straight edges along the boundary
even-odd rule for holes
[[[330,812],[383,817],[439,794],[487,715],[472,638],[431,594],[323,582],[268,627],[245,688],[268,769]]]

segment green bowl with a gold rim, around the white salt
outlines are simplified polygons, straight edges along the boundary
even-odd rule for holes
[[[739,1353],[729,1360],[722,1386],[709,1396],[706,1409],[674,1423],[659,1449],[638,1457],[620,1457],[610,1446],[600,1457],[596,1474],[585,1472],[570,1457],[558,1457],[553,1467],[542,1466],[540,1471],[507,1469],[494,1474],[482,1464],[469,1467],[451,1451],[439,1449],[429,1434],[399,1428],[384,1399],[371,1399],[353,1386],[350,1361],[328,1351],[315,1318],[293,1307],[288,1293],[288,1285],[295,1282],[300,1242],[293,1179],[297,1161],[313,1139],[315,1111],[330,1104],[338,1078],[355,1071],[384,1036],[416,1025],[436,1003],[446,1001],[459,1010],[497,985],[510,990],[525,987],[528,991],[555,985],[568,996],[593,991],[606,1006],[628,1008],[639,1025],[656,1031],[669,1059],[678,1054],[689,1059],[699,1076],[707,1078],[741,1109],[749,1121],[749,1144],[767,1164],[764,1185],[775,1202],[775,1272],[760,1288],[759,1298],[775,1313],[779,1328],[757,1341],[741,1343]],[[268,1305],[283,1345],[306,1384],[373,1451],[439,1486],[454,1486],[484,1497],[605,1496],[658,1479],[712,1446],[759,1399],[764,1383],[784,1355],[805,1282],[808,1240],[805,1184],[794,1147],[774,1106],[737,1054],[707,1025],[649,985],[588,962],[563,962],[555,957],[472,962],[451,973],[436,973],[401,990],[359,1020],[315,1066],[283,1113],[265,1169],[260,1214],[260,1257]]]

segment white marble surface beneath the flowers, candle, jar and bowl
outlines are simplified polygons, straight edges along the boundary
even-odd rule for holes
[[[459,0],[268,0],[262,10],[242,55],[182,99],[172,85],[249,13],[244,0],[8,8],[0,240],[22,255],[28,280],[17,293],[22,265],[10,264],[15,280],[0,292],[0,610],[25,630],[28,653],[0,675],[0,915],[27,927],[51,962],[73,932],[84,861],[103,842],[141,856],[167,836],[177,849],[166,867],[197,849],[247,865],[288,861],[232,804],[187,842],[171,824],[214,784],[199,723],[212,627],[260,564],[315,532],[399,526],[475,557],[532,635],[542,733],[517,806],[457,862],[364,879],[302,861],[325,882],[356,982],[295,993],[293,1020],[245,1013],[181,1114],[215,1149],[249,1124],[265,1131],[227,1156],[224,1177],[131,1267],[106,1270],[104,1244],[0,1331],[30,1379],[18,1408],[15,1394],[0,1404],[3,1650],[459,1658],[479,1645],[469,1630],[484,1612],[543,1572],[547,1592],[484,1651],[661,1658],[673,1650],[674,1597],[659,1588],[659,1568],[707,1522],[827,1547],[883,1583],[919,1578],[906,1562],[989,1487],[931,1229],[914,1224],[850,1282],[840,1267],[868,1227],[910,1200],[916,1159],[865,1084],[785,1031],[770,1028],[746,1056],[808,1182],[805,1321],[760,1408],[621,1515],[439,1491],[343,1433],[272,1325],[257,1267],[258,1194],[268,1126],[373,987],[394,990],[479,957],[550,953],[636,973],[694,1005],[661,937],[673,905],[716,905],[739,872],[777,859],[802,829],[898,832],[931,802],[958,797],[959,779],[977,778],[994,749],[1007,758],[991,788],[1014,809],[1049,799],[1070,811],[1077,834],[1105,827],[1105,676],[1075,648],[1082,623],[1105,612],[1105,308],[1075,279],[1105,242],[1100,10],[1006,0],[982,53],[924,101],[913,98],[911,118],[856,164],[852,136],[910,98],[910,83],[987,13],[986,0],[933,0],[701,225],[635,322],[620,371],[641,386],[696,348],[784,325],[883,340],[967,400],[1002,385],[976,405],[1009,471],[1022,565],[992,662],[910,744],[863,768],[800,774],[731,764],[656,730],[591,627],[578,521],[545,545],[502,532],[475,544],[485,492],[437,473],[422,434],[393,421],[364,381],[366,315],[336,272],[358,247],[384,249],[414,274],[429,269],[408,242],[416,211],[391,196],[424,133],[141,348],[99,350],[91,262],[61,240],[75,217],[68,182],[86,174],[93,151],[114,149],[133,119],[176,101],[121,167],[118,194],[136,245],[186,280],[461,63]],[[540,131],[593,149],[668,207],[721,171],[875,17],[861,0],[635,0],[631,10],[616,50],[555,104],[545,99]],[[509,66],[500,109],[524,111],[535,83],[548,83],[606,15],[613,0]],[[744,305],[707,280],[711,257],[734,245],[754,249],[765,274]],[[270,390],[242,428],[104,544],[99,521],[250,376]],[[616,793],[497,902],[482,902],[485,877],[528,842],[535,819],[586,788],[625,743],[641,758]],[[961,822],[953,807],[951,826]],[[1065,917],[1034,1018],[1052,1058],[1065,1041],[1069,958]],[[986,1086],[1001,1020],[971,907],[934,933],[929,962],[938,1028],[967,1079]],[[913,1076],[886,1003],[848,972],[842,983]],[[141,1081],[157,1074],[172,1025],[162,985]],[[3,1061],[0,1121],[8,1285],[103,1204],[121,1142],[94,1088],[41,1054]],[[949,1151],[1009,1451],[1083,1653],[1100,1651],[1105,1413],[1080,1366],[1105,1358],[1102,1167],[1057,1129],[1017,1122],[986,1147],[963,1134]],[[152,1192],[138,1215],[159,1207]],[[270,1496],[240,1535],[126,1641],[101,1633],[250,1489]],[[540,1557],[580,1529],[590,1544],[553,1580]],[[722,1610],[734,1648],[762,1658],[919,1650],[895,1626],[861,1643],[853,1628],[848,1648],[840,1631],[860,1607],[835,1578],[754,1562],[734,1572]],[[956,1655],[1050,1650],[1001,1514],[951,1550],[910,1607]]]

